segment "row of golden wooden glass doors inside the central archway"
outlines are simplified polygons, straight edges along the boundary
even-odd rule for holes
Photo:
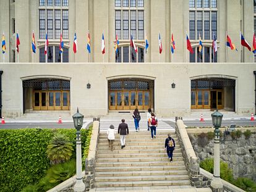
[[[110,110],[147,110],[150,106],[150,91],[109,91]]]

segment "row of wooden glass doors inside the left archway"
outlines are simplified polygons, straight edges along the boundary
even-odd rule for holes
[[[34,110],[69,110],[69,91],[33,91]]]

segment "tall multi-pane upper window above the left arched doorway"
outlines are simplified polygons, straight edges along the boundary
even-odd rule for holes
[[[63,39],[69,38],[69,10],[65,10],[69,1],[65,0],[47,0],[47,4],[58,9],[40,9],[39,10],[39,38],[45,39],[47,31],[48,39],[59,39],[62,33]],[[40,0],[40,5],[45,1]]]

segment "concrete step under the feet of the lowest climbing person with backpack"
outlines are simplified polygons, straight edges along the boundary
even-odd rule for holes
[[[173,162],[169,162],[168,159],[166,161],[153,161],[152,162],[96,162],[96,167],[124,167],[124,166],[150,166],[150,165],[184,165],[184,161],[178,161],[177,159],[173,159]]]

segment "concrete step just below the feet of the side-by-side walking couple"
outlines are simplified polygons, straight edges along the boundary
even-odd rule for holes
[[[107,146],[108,147],[108,146]],[[119,147],[114,147],[114,151],[111,151],[110,148],[108,147],[108,149],[106,148],[99,148],[98,149],[98,154],[105,154],[105,153],[109,153],[111,152],[111,154],[116,154],[116,153],[120,153],[120,154],[134,154],[134,153],[147,153],[147,154],[151,154],[151,153],[165,153],[164,151],[164,147],[161,146],[161,148],[150,148],[150,149],[143,149],[141,150],[139,149],[127,149],[127,146],[123,149],[121,149],[121,146]],[[175,152],[181,152],[181,148],[175,149]]]

